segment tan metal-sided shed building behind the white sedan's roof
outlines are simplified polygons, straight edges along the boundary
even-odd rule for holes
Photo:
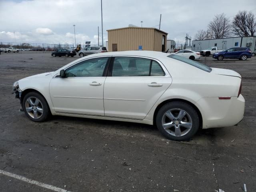
[[[125,27],[108,31],[108,51],[166,51],[167,34],[156,28]]]

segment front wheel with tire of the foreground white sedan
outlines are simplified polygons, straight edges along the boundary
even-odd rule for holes
[[[29,92],[24,96],[22,108],[26,116],[34,122],[44,122],[50,115],[45,98],[37,92]]]

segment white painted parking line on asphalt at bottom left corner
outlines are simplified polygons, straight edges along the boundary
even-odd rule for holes
[[[50,189],[50,190],[53,190],[53,191],[57,191],[57,192],[70,192],[70,191],[67,191],[67,190],[62,189],[62,188],[58,188],[58,187],[55,187],[55,186],[52,186],[52,185],[48,185],[48,184],[45,184],[45,183],[42,183],[42,182],[38,182],[38,181],[35,181],[35,180],[32,180],[32,179],[28,179],[26,177],[23,177],[23,176],[20,176],[20,175],[16,175],[16,174],[13,174],[13,173],[9,173],[9,172],[3,171],[3,170],[0,170],[0,174],[6,175],[6,176],[9,176],[9,177],[18,179],[18,180],[22,180],[24,182],[27,182],[27,183],[30,183],[30,184],[34,184],[34,185],[37,185],[37,186],[40,186],[40,187],[43,187],[43,188],[46,188],[46,189]]]

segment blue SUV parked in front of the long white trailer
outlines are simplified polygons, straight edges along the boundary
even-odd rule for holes
[[[218,59],[219,61],[223,59],[246,60],[247,58],[252,57],[252,51],[247,47],[234,47],[222,52],[214,53],[212,57],[214,59]]]

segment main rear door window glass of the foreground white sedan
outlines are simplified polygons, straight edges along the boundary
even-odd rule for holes
[[[150,59],[116,57],[113,63],[112,76],[149,76],[150,63]]]

